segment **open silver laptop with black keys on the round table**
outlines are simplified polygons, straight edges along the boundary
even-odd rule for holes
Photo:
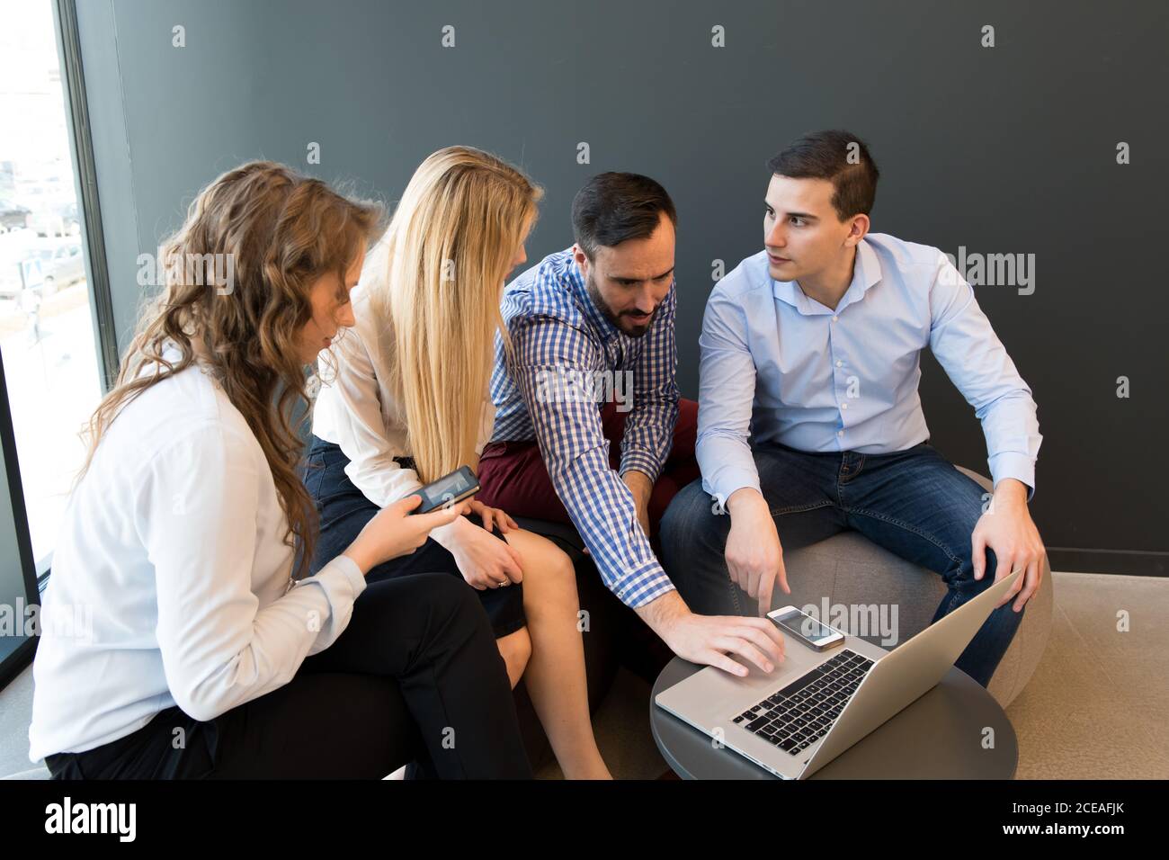
[[[783,779],[807,779],[933,689],[1023,576],[1016,570],[895,651],[848,637],[816,651],[784,637],[784,661],[738,677],[707,666],[657,706]]]

